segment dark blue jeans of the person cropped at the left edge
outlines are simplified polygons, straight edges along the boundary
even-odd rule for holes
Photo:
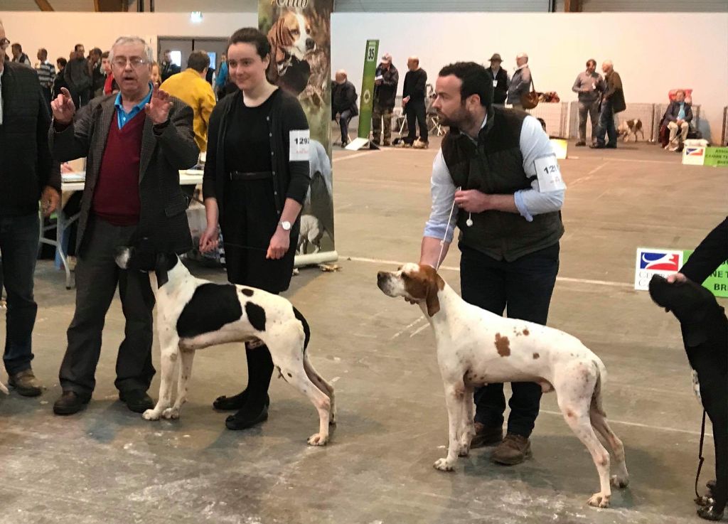
[[[7,291],[5,352],[8,375],[31,368],[32,336],[38,305],[33,300],[40,223],[38,213],[0,216],[2,278]]]

